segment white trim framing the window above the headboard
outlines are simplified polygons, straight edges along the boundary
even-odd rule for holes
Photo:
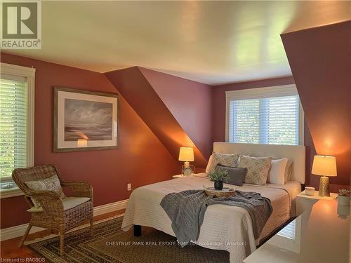
[[[230,100],[250,100],[260,99],[263,97],[282,97],[298,95],[295,84],[272,86],[263,88],[248,88],[244,90],[227,90],[225,92],[225,142],[229,142],[229,105]],[[305,140],[305,114],[301,105],[300,98],[298,100],[298,144],[304,145]]]

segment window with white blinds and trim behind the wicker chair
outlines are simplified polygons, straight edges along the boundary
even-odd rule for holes
[[[15,168],[34,163],[35,69],[1,63],[0,75],[0,186],[1,198],[15,196]]]

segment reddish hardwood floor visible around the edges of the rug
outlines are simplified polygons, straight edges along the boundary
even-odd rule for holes
[[[107,213],[103,215],[98,215],[94,217],[94,222],[103,220],[105,218],[113,217],[115,215],[121,215],[124,213],[123,210],[117,210],[112,213]],[[44,236],[48,236],[51,234],[51,230],[44,230],[40,231],[34,234],[29,234],[27,236],[26,241],[32,241],[36,238],[42,238]],[[18,248],[18,243],[20,243],[22,236],[19,236],[17,238],[12,238],[8,239],[6,241],[1,241],[0,242],[0,257],[1,257],[1,262],[6,262],[4,260],[6,259],[25,259],[24,262],[34,262],[33,260],[30,260],[32,258],[41,258],[39,257],[36,253],[34,253],[32,250],[27,248],[25,245],[23,245],[21,248]],[[26,260],[27,259],[27,260]],[[8,261],[11,262],[11,261]],[[13,261],[15,262],[15,261]],[[38,262],[46,262],[46,261],[38,261]]]

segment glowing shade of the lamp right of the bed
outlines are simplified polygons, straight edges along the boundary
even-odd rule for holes
[[[336,176],[336,159],[334,156],[315,155],[312,165],[314,175]]]

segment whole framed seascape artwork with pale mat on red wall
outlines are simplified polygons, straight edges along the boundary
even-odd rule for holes
[[[119,95],[54,87],[53,151],[119,146]]]

